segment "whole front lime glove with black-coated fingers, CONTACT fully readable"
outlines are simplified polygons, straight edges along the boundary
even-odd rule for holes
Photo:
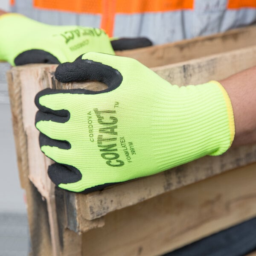
[[[234,137],[227,92],[217,81],[178,87],[140,62],[88,52],[57,67],[61,82],[100,81],[102,91],[45,89],[35,97],[51,180],[91,192],[224,153]]]

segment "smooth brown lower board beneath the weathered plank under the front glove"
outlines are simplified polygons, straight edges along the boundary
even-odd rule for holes
[[[105,216],[83,234],[84,256],[155,256],[256,216],[256,164]]]

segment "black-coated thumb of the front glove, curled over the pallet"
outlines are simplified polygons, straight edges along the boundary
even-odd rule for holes
[[[102,91],[83,90],[84,93],[87,94],[109,92],[116,89],[122,83],[123,78],[118,70],[100,62],[88,59],[84,60],[81,57],[82,56],[79,56],[74,62],[66,62],[58,65],[55,71],[56,79],[62,83],[99,81],[108,85],[108,88]],[[71,92],[72,90],[67,91]],[[77,92],[79,92],[79,90],[77,90]]]

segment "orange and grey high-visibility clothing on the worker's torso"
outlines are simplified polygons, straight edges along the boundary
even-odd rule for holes
[[[155,44],[256,21],[256,0],[33,0],[32,6],[10,1],[14,11],[42,22],[101,27],[110,37],[146,36]]]

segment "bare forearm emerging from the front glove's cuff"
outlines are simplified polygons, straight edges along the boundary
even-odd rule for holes
[[[219,82],[233,106],[236,129],[233,146],[256,143],[256,67]]]

